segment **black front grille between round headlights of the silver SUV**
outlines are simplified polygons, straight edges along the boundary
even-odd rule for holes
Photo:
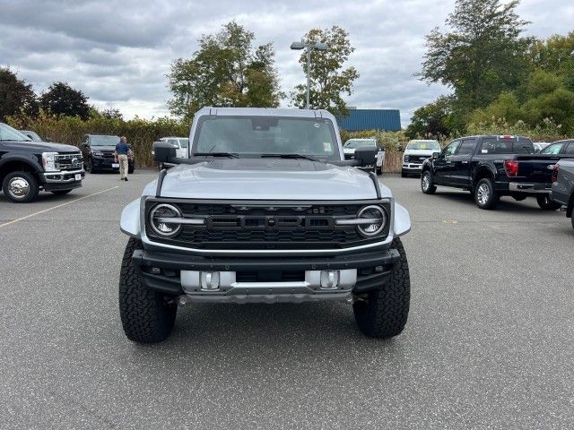
[[[149,213],[157,202],[169,202],[184,218],[204,219],[203,225],[183,225],[176,236],[157,236],[150,227]],[[337,225],[336,219],[353,219],[373,202],[336,204],[308,202],[189,202],[148,199],[145,203],[146,234],[154,242],[199,249],[343,249],[381,240],[366,238],[352,225]],[[380,203],[390,219],[389,202]],[[387,228],[382,236],[388,234]]]

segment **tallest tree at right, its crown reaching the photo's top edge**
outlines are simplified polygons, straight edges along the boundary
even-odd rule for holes
[[[503,90],[514,90],[530,72],[520,35],[528,22],[515,12],[518,0],[457,0],[446,21],[426,37],[421,79],[453,88],[468,110],[485,107]]]

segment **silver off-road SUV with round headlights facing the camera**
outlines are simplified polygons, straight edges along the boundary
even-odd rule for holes
[[[122,212],[128,339],[166,339],[187,302],[338,300],[368,336],[403,331],[409,214],[373,172],[352,168],[372,166],[375,150],[345,160],[326,110],[205,107],[191,136],[188,160],[153,144],[156,161],[182,164]]]

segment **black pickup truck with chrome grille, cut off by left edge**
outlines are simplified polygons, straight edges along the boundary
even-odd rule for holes
[[[75,146],[34,142],[0,123],[0,183],[16,203],[32,202],[40,190],[65,194],[82,186],[82,153]]]

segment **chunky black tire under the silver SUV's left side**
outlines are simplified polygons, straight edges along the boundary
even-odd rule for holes
[[[170,336],[178,306],[174,297],[157,293],[143,285],[132,255],[143,249],[142,242],[130,237],[119,275],[119,314],[127,339],[140,343],[161,342]]]

